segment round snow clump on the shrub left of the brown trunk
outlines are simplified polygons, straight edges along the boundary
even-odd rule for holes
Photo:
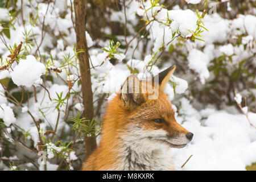
[[[40,83],[40,77],[46,72],[44,64],[38,62],[34,56],[28,55],[25,60],[20,60],[14,71],[11,72],[11,79],[20,86],[30,87]],[[26,78],[26,79],[24,79]]]

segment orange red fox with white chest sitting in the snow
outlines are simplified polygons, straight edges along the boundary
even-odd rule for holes
[[[82,170],[175,170],[170,148],[185,147],[193,138],[176,122],[164,94],[175,68],[160,72],[158,83],[127,77],[121,92],[106,107],[102,139]],[[155,99],[149,99],[152,91]]]

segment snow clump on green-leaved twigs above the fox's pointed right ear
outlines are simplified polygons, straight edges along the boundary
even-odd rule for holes
[[[167,10],[158,3],[152,6],[150,1],[138,7],[137,14],[148,21],[151,20],[150,38],[154,41],[154,52],[169,45],[177,33],[185,38],[191,36],[191,32],[197,28],[198,18],[191,10]],[[154,16],[157,20],[154,20]]]

